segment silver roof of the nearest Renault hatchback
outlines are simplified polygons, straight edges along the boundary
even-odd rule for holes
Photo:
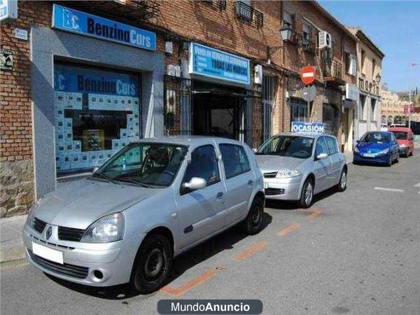
[[[155,138],[144,138],[139,139],[136,141],[132,141],[132,143],[144,143],[144,142],[153,142],[153,143],[160,143],[160,144],[179,144],[181,146],[200,146],[201,144],[209,144],[211,141],[216,141],[218,143],[228,143],[228,144],[237,144],[244,146],[246,145],[244,142],[228,139],[228,138],[221,138],[221,137],[208,137],[208,136],[193,136],[193,135],[186,135],[186,136],[166,136],[166,137],[155,137]]]

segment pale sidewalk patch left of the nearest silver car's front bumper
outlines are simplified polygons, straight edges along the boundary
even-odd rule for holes
[[[22,228],[27,216],[0,219],[0,262],[25,258]]]

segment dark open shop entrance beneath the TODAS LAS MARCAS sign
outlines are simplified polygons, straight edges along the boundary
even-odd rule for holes
[[[193,81],[193,134],[239,139],[246,90]]]

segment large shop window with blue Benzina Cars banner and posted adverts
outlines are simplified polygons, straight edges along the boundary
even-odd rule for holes
[[[141,137],[139,75],[57,63],[57,173],[98,167]]]

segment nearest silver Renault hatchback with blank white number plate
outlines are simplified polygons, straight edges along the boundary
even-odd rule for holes
[[[246,144],[144,139],[34,205],[23,230],[38,269],[90,286],[164,283],[172,258],[232,225],[262,229],[264,188]]]

